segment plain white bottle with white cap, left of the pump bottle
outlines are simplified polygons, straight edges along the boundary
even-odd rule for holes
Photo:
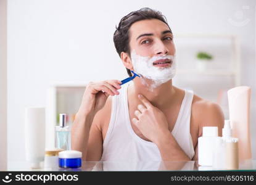
[[[217,126],[204,126],[202,137],[198,138],[198,163],[201,166],[212,166],[213,146],[218,137]]]

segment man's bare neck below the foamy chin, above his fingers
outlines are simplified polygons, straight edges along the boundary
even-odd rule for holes
[[[141,79],[135,78],[131,96],[134,100],[139,101],[138,94],[145,96],[155,107],[167,109],[171,102],[174,102],[175,88],[172,85],[172,80],[157,86],[157,88],[149,88],[142,84]]]

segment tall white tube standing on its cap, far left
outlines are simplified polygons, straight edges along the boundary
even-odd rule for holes
[[[25,152],[31,168],[39,168],[44,160],[45,108],[28,107],[25,110]]]

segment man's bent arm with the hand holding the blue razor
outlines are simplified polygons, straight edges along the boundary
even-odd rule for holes
[[[120,84],[121,81],[118,80],[107,80],[99,83],[92,82],[86,86],[83,100],[78,113],[76,113],[71,132],[72,150],[81,151],[83,160],[96,159],[101,155],[102,138],[100,130],[97,129],[97,125],[99,125],[98,118],[101,117],[99,116],[101,112],[99,110],[104,107],[109,95],[114,96],[119,94],[117,89],[121,88]],[[88,147],[92,146],[92,142],[94,150],[89,151],[93,151],[93,156],[95,154],[96,158],[91,157],[91,153],[88,155],[89,158],[86,157]]]

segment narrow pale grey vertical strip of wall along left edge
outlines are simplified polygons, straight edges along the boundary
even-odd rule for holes
[[[0,0],[0,171],[7,167],[7,1]]]

